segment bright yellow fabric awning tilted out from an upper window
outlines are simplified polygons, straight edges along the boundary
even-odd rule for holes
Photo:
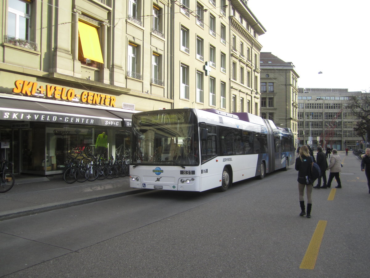
[[[101,55],[98,30],[95,27],[79,21],[78,33],[80,34],[84,57],[99,63],[104,63],[103,56]]]

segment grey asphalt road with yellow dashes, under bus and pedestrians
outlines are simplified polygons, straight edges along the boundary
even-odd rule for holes
[[[0,222],[5,277],[369,277],[360,162],[299,216],[290,166],[226,192],[148,191]],[[336,186],[333,182],[332,188]]]

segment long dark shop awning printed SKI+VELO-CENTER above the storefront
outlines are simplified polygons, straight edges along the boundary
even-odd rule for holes
[[[0,120],[122,126],[120,116],[115,116],[103,109],[18,99],[0,98],[0,113]]]

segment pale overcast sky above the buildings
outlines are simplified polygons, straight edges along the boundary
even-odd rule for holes
[[[292,62],[299,87],[370,92],[369,0],[249,0],[248,7],[266,29],[261,52]]]

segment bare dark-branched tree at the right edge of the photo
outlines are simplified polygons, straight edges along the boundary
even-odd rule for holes
[[[369,142],[370,136],[370,92],[353,95],[346,105],[352,115],[357,119],[353,130],[361,136],[364,142]],[[367,138],[366,138],[367,137]]]

